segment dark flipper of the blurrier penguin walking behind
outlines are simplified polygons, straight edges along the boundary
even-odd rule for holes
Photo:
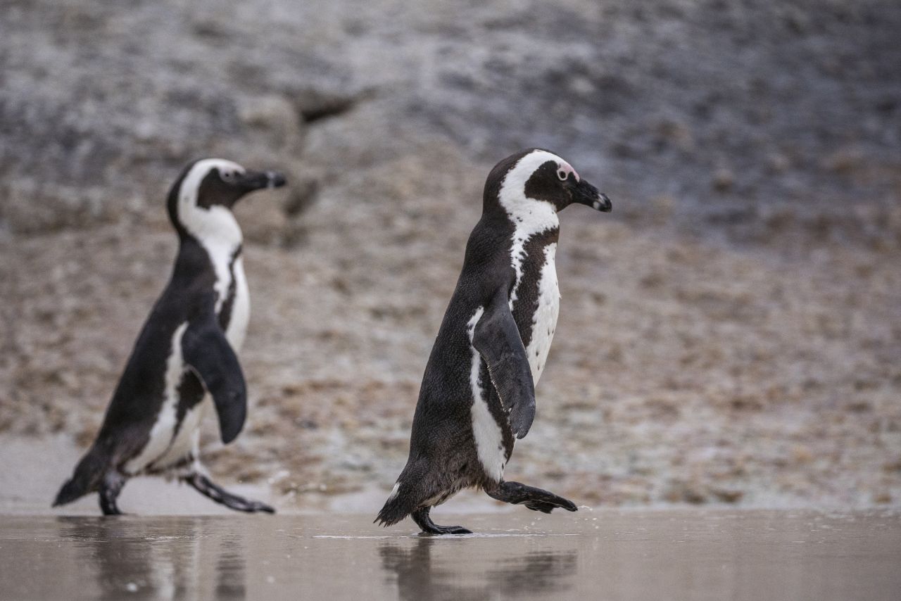
[[[181,346],[185,362],[213,395],[223,442],[232,442],[247,417],[247,387],[238,356],[219,327],[214,311],[206,312],[188,326]]]

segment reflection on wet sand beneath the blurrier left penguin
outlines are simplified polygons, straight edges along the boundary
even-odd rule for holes
[[[76,541],[87,551],[102,599],[246,596],[241,535],[205,536],[209,524],[203,518],[171,518],[161,526],[141,526],[131,521],[61,517],[58,524],[61,538]],[[210,553],[201,544],[216,548]]]

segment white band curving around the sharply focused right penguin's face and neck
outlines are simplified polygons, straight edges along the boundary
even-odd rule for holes
[[[501,184],[498,200],[504,207],[510,221],[514,224],[513,245],[510,248],[510,263],[516,271],[516,283],[510,294],[510,310],[516,302],[520,281],[523,279],[523,260],[525,260],[525,242],[536,233],[546,232],[560,226],[557,208],[543,200],[535,200],[525,196],[525,183],[532,177],[535,169],[549,160],[557,162],[569,169],[569,163],[547,150],[532,150],[510,169]],[[573,171],[575,173],[575,171]]]

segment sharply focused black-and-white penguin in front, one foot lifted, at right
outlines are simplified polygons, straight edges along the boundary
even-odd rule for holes
[[[551,513],[576,505],[541,488],[504,480],[514,439],[535,415],[560,309],[554,253],[557,213],[578,203],[609,212],[610,199],[559,156],[530,149],[497,163],[488,175],[482,217],[425,367],[413,419],[410,455],[376,521],[407,515],[431,534],[429,511],[461,488]]]

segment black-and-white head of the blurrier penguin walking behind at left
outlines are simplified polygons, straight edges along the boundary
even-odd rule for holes
[[[231,160],[199,159],[182,171],[169,190],[169,219],[179,232],[214,236],[217,229],[237,227],[232,206],[241,197],[284,185],[285,178],[274,171],[248,171]]]

